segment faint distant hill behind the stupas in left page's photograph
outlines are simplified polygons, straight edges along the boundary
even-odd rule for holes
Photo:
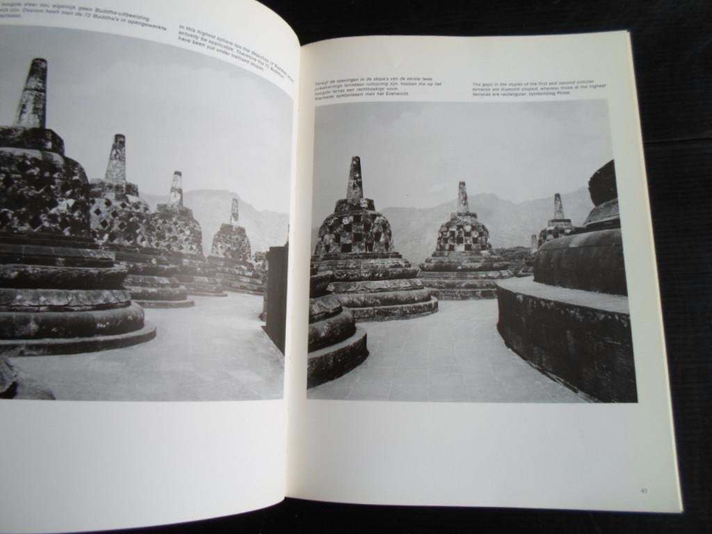
[[[167,195],[141,194],[151,209],[168,201]],[[287,241],[288,214],[276,211],[259,211],[226,189],[199,189],[183,194],[183,204],[193,210],[193,215],[203,231],[203,253],[210,255],[213,236],[220,225],[230,221],[232,199],[240,201],[240,226],[244,226],[252,252],[268,251],[270,246],[281,246]]]

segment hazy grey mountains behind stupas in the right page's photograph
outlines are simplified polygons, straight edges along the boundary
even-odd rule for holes
[[[564,214],[580,225],[593,208],[588,189],[562,194]],[[481,223],[490,232],[494,248],[530,245],[531,234],[539,234],[554,215],[554,196],[515,204],[494,194],[475,194],[468,199]],[[435,249],[440,225],[450,218],[456,199],[432,208],[386,208],[379,210],[390,221],[396,250],[412,263],[422,263]],[[313,221],[317,222],[317,221]],[[318,221],[320,224],[321,221]],[[312,251],[319,226],[312,229]]]

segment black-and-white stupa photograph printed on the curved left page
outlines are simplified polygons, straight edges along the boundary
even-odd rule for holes
[[[0,43],[0,398],[281,399],[290,95],[108,33]]]

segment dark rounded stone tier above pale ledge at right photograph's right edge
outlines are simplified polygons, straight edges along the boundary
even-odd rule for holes
[[[627,295],[620,229],[571,234],[543,244],[537,253],[534,280]]]

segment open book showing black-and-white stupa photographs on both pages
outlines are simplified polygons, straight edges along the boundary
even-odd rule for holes
[[[629,36],[0,1],[0,529],[681,510]]]

